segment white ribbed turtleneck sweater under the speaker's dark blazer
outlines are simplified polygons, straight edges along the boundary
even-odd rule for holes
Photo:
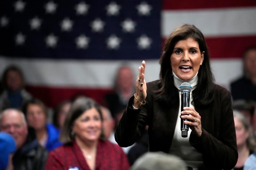
[[[192,90],[190,92],[189,106],[194,108],[194,105],[191,103],[191,101],[193,99],[192,91],[197,87],[197,74],[192,79],[184,81],[178,78],[173,72],[174,85],[179,90],[179,112],[176,113],[178,114],[178,118],[170,148],[170,154],[181,157],[181,159],[186,162],[187,166],[193,167],[194,169],[198,169],[199,166],[202,166],[203,156],[189,143],[189,137],[191,134],[190,128],[188,131],[188,136],[186,138],[181,137],[181,118],[179,117],[181,115],[181,91],[179,89],[179,86],[184,82],[187,82],[192,86]]]

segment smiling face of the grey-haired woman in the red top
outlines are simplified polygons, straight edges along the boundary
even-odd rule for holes
[[[80,141],[96,141],[102,130],[102,121],[96,108],[83,112],[75,121],[72,128],[75,139]]]

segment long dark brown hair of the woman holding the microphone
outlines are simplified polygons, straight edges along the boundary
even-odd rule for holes
[[[198,71],[197,88],[193,91],[193,103],[194,105],[207,105],[213,100],[214,77],[211,71],[209,50],[205,38],[202,32],[194,25],[182,24],[167,37],[159,61],[161,70],[158,82],[160,89],[157,91],[157,99],[165,104],[174,103],[178,100],[173,97],[178,96],[178,90],[173,82],[170,57],[175,44],[179,40],[186,40],[188,38],[193,38],[197,41],[200,52],[204,52],[204,60]]]

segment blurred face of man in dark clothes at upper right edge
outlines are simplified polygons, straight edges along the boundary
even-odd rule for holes
[[[256,76],[256,50],[249,50],[246,53],[244,67],[249,77]]]

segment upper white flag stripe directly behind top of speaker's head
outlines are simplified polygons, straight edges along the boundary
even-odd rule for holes
[[[204,36],[256,34],[256,7],[165,10],[162,12],[162,36],[167,37],[177,25],[194,24]]]

